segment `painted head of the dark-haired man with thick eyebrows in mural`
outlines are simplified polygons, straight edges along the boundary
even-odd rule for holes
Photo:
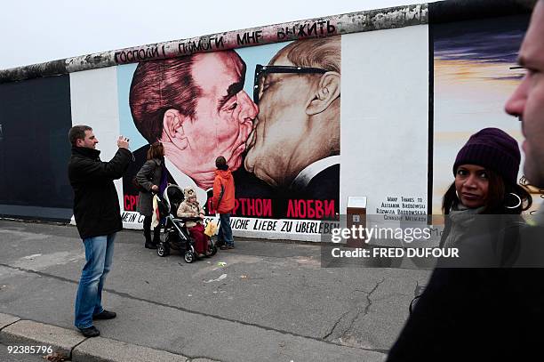
[[[245,64],[234,51],[143,62],[132,78],[130,105],[140,133],[161,141],[181,172],[207,189],[222,154],[236,170],[257,106],[244,92]]]

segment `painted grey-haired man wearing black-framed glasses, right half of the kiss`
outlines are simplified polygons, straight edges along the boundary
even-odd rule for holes
[[[340,37],[294,42],[257,66],[254,101],[246,170],[275,188],[305,189],[319,173],[338,185]]]

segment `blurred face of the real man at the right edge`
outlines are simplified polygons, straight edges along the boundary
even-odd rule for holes
[[[507,101],[506,111],[522,121],[525,176],[532,185],[544,187],[544,0],[532,12],[518,61],[527,74]]]

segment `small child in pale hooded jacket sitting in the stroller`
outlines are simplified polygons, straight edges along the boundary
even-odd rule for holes
[[[195,240],[195,249],[198,257],[204,257],[206,248],[208,247],[208,236],[204,234],[204,209],[196,200],[195,189],[188,187],[183,189],[185,199],[178,208],[178,217],[200,217],[198,221],[187,221],[185,226],[188,229],[189,235]]]

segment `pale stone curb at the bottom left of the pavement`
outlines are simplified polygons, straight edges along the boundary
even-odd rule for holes
[[[4,313],[0,313],[0,342],[52,347],[53,352],[73,362],[212,362],[212,359],[191,359],[109,338],[86,338],[73,329],[46,325]]]

